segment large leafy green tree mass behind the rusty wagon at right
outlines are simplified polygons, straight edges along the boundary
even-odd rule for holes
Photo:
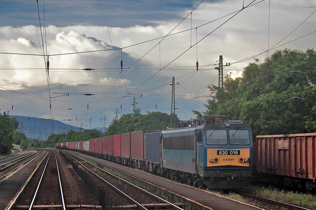
[[[203,114],[250,124],[256,135],[316,132],[316,52],[278,50],[250,63],[241,77],[210,85]],[[195,113],[198,114],[198,113]]]

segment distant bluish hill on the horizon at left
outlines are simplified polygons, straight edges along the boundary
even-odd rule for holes
[[[80,131],[80,128],[58,120],[15,115],[10,115],[10,117],[15,117],[19,121],[20,124],[17,130],[21,131],[23,127],[23,133],[30,139],[46,140],[52,133],[67,133],[70,130]],[[83,128],[82,130],[86,129]]]

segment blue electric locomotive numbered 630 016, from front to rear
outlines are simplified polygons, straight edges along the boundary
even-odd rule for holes
[[[158,173],[202,188],[242,188],[252,179],[252,129],[241,120],[204,116],[161,132]],[[190,127],[187,127],[187,126]]]

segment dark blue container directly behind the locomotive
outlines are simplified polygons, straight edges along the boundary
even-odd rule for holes
[[[144,159],[148,162],[160,163],[161,132],[144,134]]]

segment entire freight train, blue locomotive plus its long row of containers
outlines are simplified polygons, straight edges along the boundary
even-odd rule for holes
[[[252,129],[241,120],[224,122],[224,117],[203,116],[163,131],[138,131],[55,146],[199,188],[239,189],[253,176]]]

